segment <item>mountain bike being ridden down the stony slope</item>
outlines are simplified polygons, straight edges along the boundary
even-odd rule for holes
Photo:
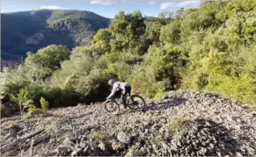
[[[107,99],[105,102],[105,109],[106,111],[113,113],[113,114],[118,114],[120,111],[120,105],[123,104],[125,108],[130,108],[131,110],[135,111],[143,111],[146,103],[145,100],[143,99],[142,96],[138,95],[132,95],[124,101],[122,98],[112,98],[112,99]]]

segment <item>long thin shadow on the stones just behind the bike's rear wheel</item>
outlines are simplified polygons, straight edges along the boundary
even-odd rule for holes
[[[162,111],[169,109],[171,107],[183,105],[187,102],[187,99],[179,96],[171,96],[165,98],[164,100],[158,100],[155,102],[150,102],[145,107],[144,111]]]

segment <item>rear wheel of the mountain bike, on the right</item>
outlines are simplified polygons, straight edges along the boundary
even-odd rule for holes
[[[135,111],[143,111],[145,108],[146,103],[142,96],[133,95],[128,99],[128,107],[131,110]]]

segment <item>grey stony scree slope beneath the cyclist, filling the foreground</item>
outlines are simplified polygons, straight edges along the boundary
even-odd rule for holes
[[[1,153],[251,156],[256,155],[256,112],[244,103],[194,90],[148,101],[144,112],[122,107],[113,115],[103,104],[58,108],[2,118]]]

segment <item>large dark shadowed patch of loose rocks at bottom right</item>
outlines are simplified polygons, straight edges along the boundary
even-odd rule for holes
[[[182,135],[172,141],[175,155],[220,156],[246,155],[241,145],[223,125],[208,119],[195,119],[182,126]]]

